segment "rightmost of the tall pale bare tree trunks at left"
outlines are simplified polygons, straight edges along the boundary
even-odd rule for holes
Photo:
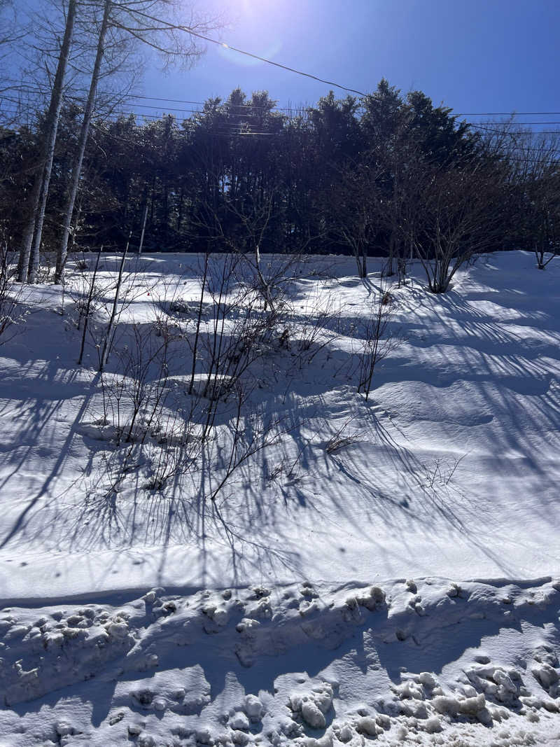
[[[78,185],[80,182],[81,175],[81,164],[84,161],[84,153],[86,150],[87,136],[90,133],[90,123],[93,114],[93,104],[96,98],[97,84],[99,82],[99,72],[101,70],[101,63],[103,60],[104,45],[105,45],[105,34],[107,34],[107,28],[109,25],[109,12],[111,10],[111,0],[105,0],[103,7],[103,19],[101,23],[101,29],[99,31],[99,40],[97,43],[96,61],[93,66],[93,73],[91,75],[90,92],[87,95],[87,103],[84,111],[84,120],[81,123],[80,139],[78,141],[78,156],[75,162],[74,169],[72,170],[72,181],[70,182],[70,188],[68,193],[68,201],[66,202],[66,208],[64,213],[64,223],[62,239],[60,241],[60,247],[57,255],[57,267],[55,272],[55,282],[60,282],[64,273],[64,265],[66,264],[66,251],[68,248],[68,238],[70,235],[70,225],[72,223],[72,213],[74,211],[74,203],[76,195],[78,194]]]

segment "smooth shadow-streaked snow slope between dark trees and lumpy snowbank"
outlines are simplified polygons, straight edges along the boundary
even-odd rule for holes
[[[228,542],[223,522],[201,500],[223,474],[216,454],[204,490],[195,469],[154,492],[158,460],[167,459],[163,468],[172,472],[181,449],[196,451],[208,402],[186,393],[199,259],[135,261],[105,389],[89,338],[86,365],[75,366],[83,273],[69,276],[77,300],[66,292],[62,317],[59,289],[31,289],[22,334],[0,347],[4,598],[235,586],[255,573],[266,583],[337,581],[341,568],[364,580],[461,578],[465,568],[479,577],[522,578],[559,568],[555,263],[537,272],[523,252],[480,258],[443,297],[426,294],[418,268],[409,285],[393,284],[390,332],[400,343],[376,368],[366,403],[356,394],[355,359],[379,273],[364,284],[352,276],[349,258],[311,258],[290,285],[292,311],[281,329],[291,338],[280,342],[282,332],[271,340],[250,372],[253,432],[264,421],[284,432],[223,489],[220,511],[235,535]],[[110,306],[114,279],[111,258],[106,262],[99,277]],[[171,300],[188,313],[167,314]],[[231,323],[243,320],[243,309],[233,315]],[[317,319],[319,337],[307,355],[302,329],[314,329]],[[131,427],[131,396],[155,396],[161,372],[143,374],[140,391],[133,372],[117,365],[134,349],[134,324],[144,350],[161,344],[162,329],[172,338],[165,407],[151,426],[149,407],[140,406]],[[216,422],[227,453],[235,412],[224,400]],[[191,407],[185,431],[181,412]],[[134,448],[116,447],[116,436],[127,433]],[[335,438],[347,440],[333,448]]]

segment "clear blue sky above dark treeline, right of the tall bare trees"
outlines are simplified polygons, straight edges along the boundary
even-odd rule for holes
[[[214,6],[231,19],[216,35],[232,46],[364,92],[385,76],[457,112],[560,111],[560,0],[215,0]],[[143,93],[202,101],[237,86],[246,93],[267,89],[280,106],[313,104],[329,90],[208,46],[186,72],[162,75],[154,63]]]

